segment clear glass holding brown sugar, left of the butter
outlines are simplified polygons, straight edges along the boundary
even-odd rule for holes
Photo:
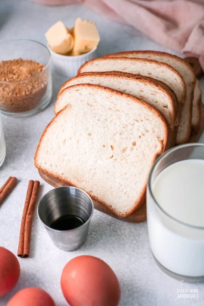
[[[15,67],[3,67],[2,61],[14,59],[32,60],[43,64],[40,71],[32,72],[32,76],[15,80]],[[28,62],[28,65],[32,65]],[[24,66],[20,64],[20,68]],[[27,68],[26,68],[27,69]],[[30,66],[32,69],[32,66]],[[8,73],[8,80],[2,81],[2,75]],[[12,78],[13,73],[13,79]],[[25,71],[27,73],[27,70]],[[0,43],[0,110],[2,114],[12,117],[30,116],[43,110],[52,98],[52,76],[50,52],[46,46],[30,39],[14,39]]]

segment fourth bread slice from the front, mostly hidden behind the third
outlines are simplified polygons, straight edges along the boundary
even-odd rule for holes
[[[186,85],[186,98],[184,107],[182,109],[181,118],[178,126],[176,144],[183,144],[188,142],[191,135],[191,120],[192,120],[192,105],[195,88],[195,73],[191,65],[185,62],[182,58],[166,52],[159,51],[125,51],[114,54],[108,54],[107,57],[121,57],[128,58],[147,58],[158,62],[166,63],[176,69],[183,77]]]

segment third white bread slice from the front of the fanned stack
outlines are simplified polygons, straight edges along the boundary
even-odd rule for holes
[[[95,58],[84,63],[77,74],[114,70],[140,74],[166,83],[175,92],[178,98],[179,112],[181,113],[186,86],[180,73],[168,64],[143,58]]]

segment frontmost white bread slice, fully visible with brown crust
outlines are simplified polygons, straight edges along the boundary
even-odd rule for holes
[[[125,217],[145,199],[149,171],[168,146],[169,127],[150,104],[110,88],[80,84],[46,127],[35,166],[85,190]],[[66,104],[66,103],[65,103]]]

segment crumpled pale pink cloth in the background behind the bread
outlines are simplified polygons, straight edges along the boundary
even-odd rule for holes
[[[131,24],[156,42],[199,58],[204,69],[204,0],[34,0],[47,5],[78,2]]]

